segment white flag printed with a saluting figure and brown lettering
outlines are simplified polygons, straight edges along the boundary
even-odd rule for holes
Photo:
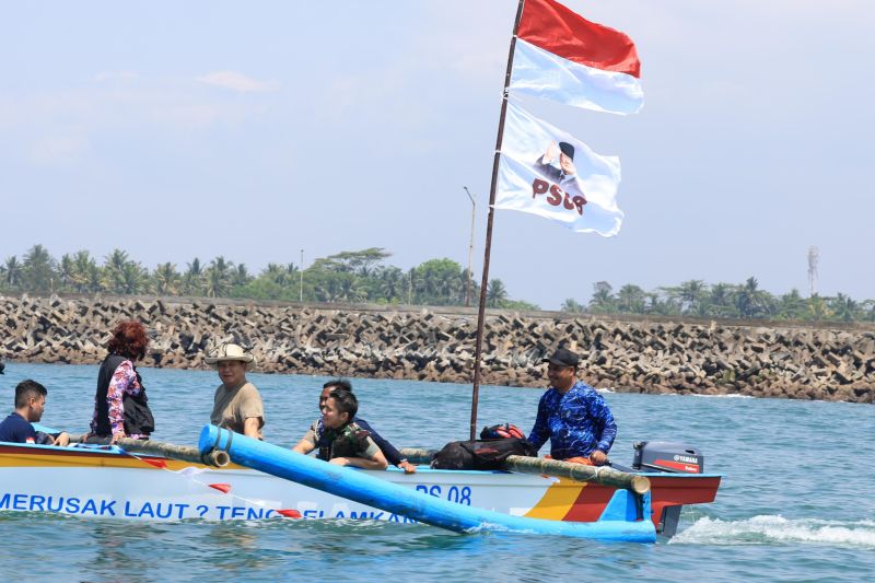
[[[614,236],[620,160],[593,152],[573,136],[508,102],[499,161],[497,209],[530,212],[580,233]]]

